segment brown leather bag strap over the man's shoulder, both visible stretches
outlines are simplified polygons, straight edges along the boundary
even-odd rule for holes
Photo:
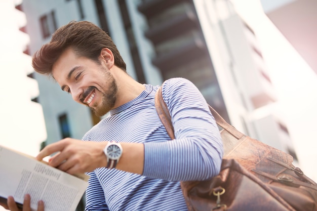
[[[229,132],[232,136],[234,136],[237,139],[240,139],[244,136],[243,133],[237,131],[231,124],[226,122],[213,107],[211,107],[210,105],[208,106],[217,124],[221,126],[221,128]],[[156,91],[155,94],[155,108],[157,114],[159,114],[159,117],[163,125],[165,126],[167,133],[169,134],[172,140],[175,139],[171,115],[162,95],[162,86]]]

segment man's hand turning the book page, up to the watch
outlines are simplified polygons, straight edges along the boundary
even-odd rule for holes
[[[36,159],[42,160],[44,157],[57,152],[49,159],[49,165],[69,174],[82,174],[107,165],[106,156],[103,152],[106,145],[107,142],[90,142],[66,138],[46,146],[39,152]]]

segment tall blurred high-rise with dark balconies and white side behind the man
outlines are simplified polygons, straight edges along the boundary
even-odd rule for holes
[[[72,20],[99,25],[113,39],[127,72],[141,83],[171,77],[191,80],[207,102],[241,132],[295,158],[287,126],[273,112],[276,102],[253,30],[229,1],[207,0],[24,0],[29,51]],[[48,131],[47,143],[80,139],[100,119],[34,74]]]

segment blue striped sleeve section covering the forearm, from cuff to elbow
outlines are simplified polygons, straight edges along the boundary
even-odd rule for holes
[[[147,143],[143,175],[170,181],[206,180],[219,173],[221,158],[219,142],[202,137]]]

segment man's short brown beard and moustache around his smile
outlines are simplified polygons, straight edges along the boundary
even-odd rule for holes
[[[115,101],[116,101],[116,94],[117,94],[117,83],[114,77],[111,75],[110,72],[104,70],[104,81],[107,81],[107,87],[103,87],[104,91],[97,89],[96,87],[92,86],[89,87],[85,93],[83,94],[83,100],[93,91],[98,90],[102,94],[102,102],[101,104],[93,104],[90,109],[96,114],[96,116],[100,117],[108,113],[111,109],[113,109]],[[82,101],[83,102],[83,101]]]

